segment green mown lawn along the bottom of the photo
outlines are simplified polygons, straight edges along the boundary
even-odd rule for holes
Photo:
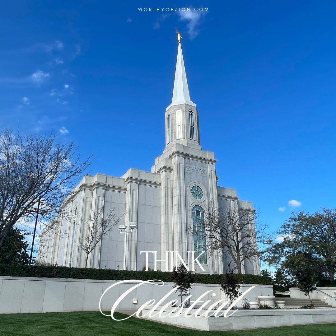
[[[123,314],[115,313],[121,319]],[[182,329],[142,319],[114,321],[100,312],[0,314],[0,336],[336,336],[336,324],[318,324],[242,331],[207,332]]]

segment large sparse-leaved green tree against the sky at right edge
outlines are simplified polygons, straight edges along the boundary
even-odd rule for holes
[[[272,261],[280,263],[291,255],[303,254],[324,272],[330,281],[336,270],[336,209],[293,214],[278,231],[283,238],[273,245]]]

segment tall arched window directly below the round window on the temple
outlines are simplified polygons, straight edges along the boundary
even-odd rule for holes
[[[205,243],[204,211],[199,205],[193,207],[193,230],[195,257],[204,253],[198,258],[201,264],[207,263],[207,250]]]

